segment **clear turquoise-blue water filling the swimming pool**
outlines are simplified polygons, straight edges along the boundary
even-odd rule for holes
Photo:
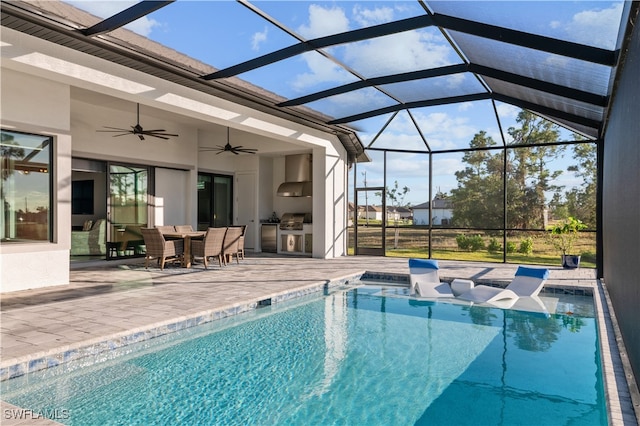
[[[607,424],[590,298],[542,315],[403,292],[261,308],[9,380],[2,399],[70,425]]]

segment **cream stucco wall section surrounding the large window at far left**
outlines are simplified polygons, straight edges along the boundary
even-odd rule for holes
[[[69,282],[71,136],[69,86],[4,69],[1,125],[54,137],[53,242],[0,244],[0,291]],[[60,220],[65,218],[65,220]]]

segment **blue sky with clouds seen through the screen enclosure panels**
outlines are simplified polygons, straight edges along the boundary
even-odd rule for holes
[[[135,2],[69,3],[97,16],[108,17]],[[253,4],[279,20],[292,33],[307,39],[424,13],[416,1],[257,1]],[[622,9],[620,1],[446,1],[428,4],[438,13],[607,49],[615,47]],[[480,4],[483,7],[478,7]],[[294,36],[271,25],[246,7],[224,0],[179,0],[133,22],[127,28],[220,69],[298,42]],[[402,48],[398,48],[399,46]],[[487,48],[492,46],[487,45]],[[435,28],[335,46],[327,49],[327,53],[365,77],[413,71],[425,66],[461,63],[457,53]],[[559,70],[572,66],[560,63],[560,59],[562,58],[546,55],[541,61],[548,61],[548,66]],[[603,70],[594,68],[590,72]],[[317,53],[299,55],[238,77],[286,98],[299,97],[355,80],[352,74]],[[406,86],[388,86],[386,89],[400,93],[403,97],[410,97],[412,91],[420,90],[441,91],[451,95],[476,92],[477,84],[475,79],[460,74],[432,79],[428,83],[416,82],[408,89]],[[590,89],[606,90],[606,87]],[[341,117],[388,103],[389,100],[384,95],[373,89],[365,89],[323,99],[308,106],[330,116]],[[503,130],[515,125],[515,117],[519,111],[517,108],[498,103],[497,109]],[[487,101],[423,108],[412,113],[434,149],[467,147],[473,135],[480,130],[486,131],[497,141],[502,137],[494,112]],[[352,124],[358,129],[360,139],[366,146],[388,119],[389,115],[385,115]],[[507,135],[505,137],[508,138]],[[573,139],[570,132],[563,132],[563,137]],[[373,146],[421,149],[424,145],[409,116],[400,113]],[[407,201],[414,205],[427,201],[428,193],[423,178],[428,170],[427,156],[396,154],[392,157],[387,167],[388,173],[392,175],[388,178],[388,183],[398,180],[400,186],[409,186],[411,192],[407,195]],[[456,186],[452,172],[462,168],[460,157],[461,155],[438,157],[438,162],[434,164],[434,183],[444,192]],[[566,169],[568,164],[570,162],[563,159],[557,160],[558,168]],[[381,164],[369,164],[364,168],[368,170],[369,186],[382,185]],[[580,181],[571,173],[565,172],[557,183],[571,187],[580,184]]]

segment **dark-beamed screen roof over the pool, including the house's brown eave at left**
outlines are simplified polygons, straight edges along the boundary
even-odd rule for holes
[[[480,130],[508,145],[520,109],[600,138],[632,7],[6,1],[2,25],[336,132],[355,157],[464,149]]]

